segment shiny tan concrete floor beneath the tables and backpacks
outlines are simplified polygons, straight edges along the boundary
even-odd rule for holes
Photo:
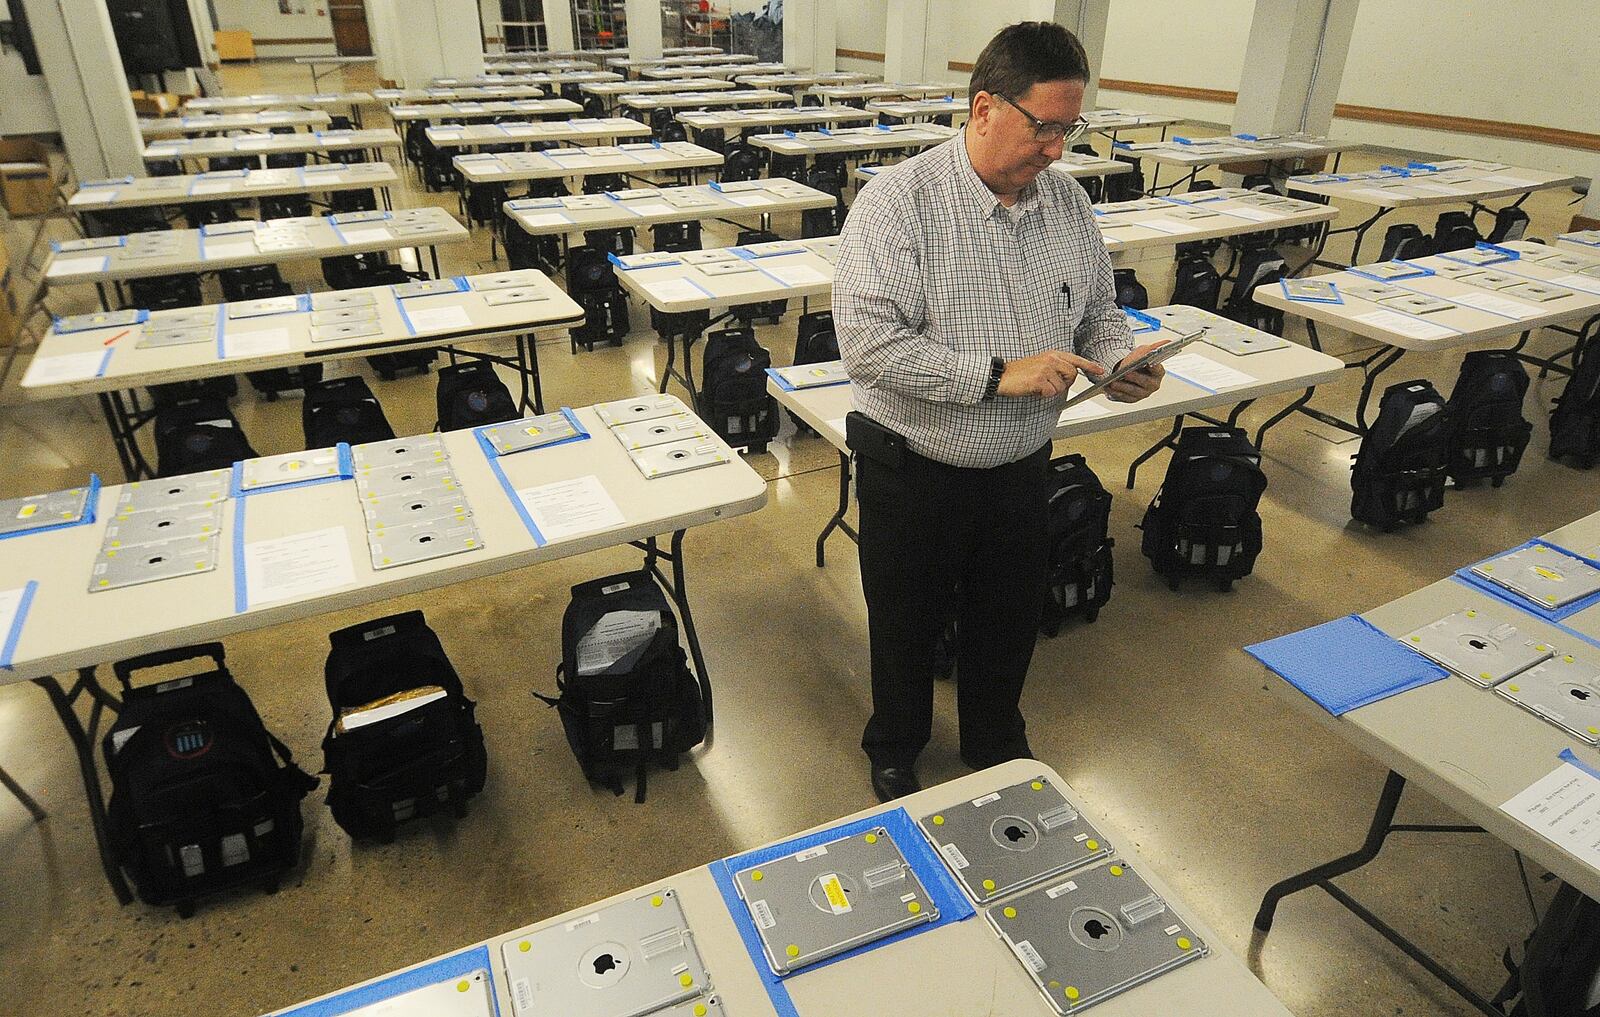
[[[306,69],[291,64],[229,67],[222,77],[235,93],[309,85]],[[346,83],[370,86],[371,78],[352,69]],[[1462,136],[1453,154],[1470,152]],[[1390,157],[1352,154],[1344,165],[1378,162]],[[1571,197],[1534,195],[1525,205],[1531,233],[1565,229]],[[424,201],[454,206],[440,195],[397,193],[402,206]],[[797,235],[797,225],[779,221],[778,229]],[[709,230],[706,243],[725,240]],[[443,259],[451,273],[480,270],[488,241],[475,235]],[[1146,264],[1141,277],[1152,302],[1163,301],[1166,259]],[[56,307],[74,309],[69,301]],[[565,342],[542,344],[547,398],[586,405],[653,389],[662,353],[637,304],[634,321],[621,349],[573,357]],[[792,315],[763,329],[779,363],[792,337]],[[1562,345],[1554,334],[1533,341],[1534,350]],[[1390,379],[1426,376],[1448,392],[1458,365],[1459,355],[1413,355]],[[350,369],[366,371],[334,368]],[[432,376],[374,381],[374,389],[402,433],[432,425]],[[1115,485],[1118,584],[1096,624],[1040,643],[1024,704],[1034,748],[1096,814],[1128,832],[1218,929],[1218,945],[1248,955],[1299,1017],[1469,1011],[1320,894],[1286,902],[1266,947],[1251,948],[1261,892],[1358,844],[1382,769],[1282,696],[1240,648],[1379,604],[1590,512],[1595,475],[1542,456],[1558,390],[1560,381],[1534,382],[1526,408],[1534,443],[1502,489],[1451,493],[1434,521],[1387,536],[1349,521],[1355,443],[1283,424],[1266,449],[1266,552],[1254,576],[1227,595],[1168,592],[1138,552],[1134,524],[1163,467],[1146,469],[1131,493],[1117,478],[1163,424],[1072,443]],[[1354,392],[1346,379],[1325,387],[1318,403],[1347,411]],[[1246,422],[1288,398],[1264,400]],[[262,454],[298,448],[296,400],[267,405],[245,395],[235,411]],[[5,409],[0,448],[0,497],[67,486],[90,469],[117,477],[91,400]],[[835,539],[826,569],[811,561],[811,540],[834,505],[837,459],[818,438],[794,438],[786,427],[773,451],[750,462],[771,481],[768,507],[688,539],[691,596],[717,689],[717,744],[651,777],[643,806],[587,787],[555,716],[530,694],[554,686],[568,588],[632,568],[637,558],[622,552],[230,638],[229,662],[267,724],[315,769],[326,724],[326,633],[426,609],[478,700],[490,784],[464,822],[418,824],[390,846],[352,846],[314,793],[304,806],[306,860],[283,892],[216,900],[187,921],[115,905],[56,718],[37,689],[0,689],[0,763],[50,809],[34,824],[0,793],[0,971],[11,999],[0,1011],[198,1017],[282,1007],[870,804],[858,748],[869,692],[856,558]],[[963,772],[950,688],[939,689],[936,723],[920,764],[928,784]],[[1402,819],[1454,820],[1422,793],[1406,796]],[[1539,875],[1542,907],[1549,887]],[[1344,884],[1485,993],[1502,980],[1501,950],[1530,927],[1514,855],[1486,836],[1395,836]]]

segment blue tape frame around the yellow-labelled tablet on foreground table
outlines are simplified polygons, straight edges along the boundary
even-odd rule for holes
[[[966,895],[955,886],[955,879],[950,878],[949,870],[946,870],[944,863],[933,852],[928,840],[922,835],[922,830],[917,828],[917,824],[912,822],[906,809],[890,809],[888,812],[869,816],[851,824],[843,824],[806,836],[797,836],[781,844],[758,848],[741,855],[722,859],[707,867],[710,870],[712,881],[715,881],[717,891],[722,894],[722,900],[728,908],[728,915],[733,918],[733,924],[739,931],[739,939],[744,940],[744,948],[750,955],[750,963],[755,967],[757,975],[762,979],[762,985],[766,988],[766,996],[771,1001],[773,1009],[782,1017],[798,1017],[800,1011],[789,996],[789,990],[784,987],[784,979],[774,975],[773,969],[766,964],[766,956],[762,953],[762,939],[755,931],[755,923],[750,921],[750,910],[744,905],[744,900],[739,899],[733,873],[752,865],[765,865],[774,859],[787,857],[818,844],[845,836],[856,836],[877,827],[883,827],[888,830],[890,836],[894,838],[894,844],[901,849],[901,854],[906,855],[906,862],[910,865],[912,871],[917,873],[917,878],[922,879],[923,889],[928,891],[933,903],[939,908],[939,919],[914,929],[906,929],[904,932],[866,943],[854,950],[846,950],[845,953],[832,956],[826,961],[808,964],[795,974],[818,971],[821,967],[827,967],[829,964],[854,958],[861,953],[896,943],[902,939],[920,935],[957,921],[966,921],[976,913],[973,905],[966,900]]]

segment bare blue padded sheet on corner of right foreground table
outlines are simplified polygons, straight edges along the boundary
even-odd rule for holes
[[[1245,652],[1334,716],[1450,675],[1355,614],[1246,646]]]

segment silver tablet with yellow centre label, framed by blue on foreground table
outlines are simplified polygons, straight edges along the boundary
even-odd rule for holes
[[[752,865],[733,879],[779,977],[939,919],[883,827]]]

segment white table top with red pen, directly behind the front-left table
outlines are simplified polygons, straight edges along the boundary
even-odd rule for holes
[[[34,353],[29,369],[22,374],[18,393],[29,401],[53,400],[94,392],[136,389],[141,385],[194,381],[219,374],[237,374],[238,371],[288,368],[304,365],[307,360],[342,360],[365,357],[373,352],[392,353],[403,349],[475,342],[498,336],[565,331],[582,321],[582,309],[538,270],[520,270],[515,275],[518,288],[542,294],[539,299],[515,304],[488,304],[483,293],[472,289],[480,281],[491,285],[499,275],[509,273],[469,275],[464,277],[467,289],[408,297],[405,301],[394,296],[392,286],[341,289],[339,293],[373,294],[374,302],[371,307],[378,312],[381,328],[373,336],[314,339],[310,297],[301,297],[298,310],[254,318],[230,318],[226,304],[205,304],[181,312],[157,312],[146,323],[134,326],[115,325],[64,336],[51,331],[45,334],[38,350]],[[402,312],[402,307],[405,312]],[[467,315],[469,323],[438,328],[429,325],[426,317],[422,323],[416,323],[411,318],[411,312],[416,310],[448,307],[459,307]],[[182,325],[174,325],[174,320],[186,321],[205,317],[210,317],[213,321],[213,339],[208,342],[139,347],[141,339],[150,333],[182,328]],[[218,325],[221,326],[221,336],[216,336]],[[261,336],[272,337],[274,333],[283,333],[278,349],[262,350],[261,347],[266,341]],[[115,339],[117,336],[122,337]],[[107,339],[115,339],[110,347],[106,345]],[[254,339],[253,344],[251,339]],[[109,352],[110,358],[104,361],[96,376],[56,381],[56,373],[50,369],[50,361],[54,357],[98,350]],[[45,381],[40,381],[42,377]]]

